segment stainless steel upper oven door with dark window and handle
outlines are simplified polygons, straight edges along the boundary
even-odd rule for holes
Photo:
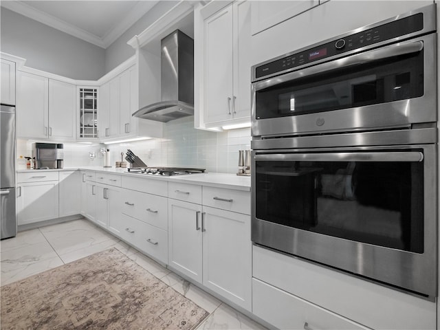
[[[435,122],[429,34],[252,84],[252,135],[299,135]]]

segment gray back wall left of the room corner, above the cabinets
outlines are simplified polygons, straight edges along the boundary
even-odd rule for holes
[[[26,58],[25,65],[72,79],[96,80],[105,71],[105,50],[1,8],[1,52]]]

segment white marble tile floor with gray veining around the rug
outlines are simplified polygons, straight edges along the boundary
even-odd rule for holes
[[[141,267],[210,313],[197,330],[265,329],[199,287],[162,267],[86,219],[19,232],[0,241],[1,285],[50,270],[96,252],[118,248]]]

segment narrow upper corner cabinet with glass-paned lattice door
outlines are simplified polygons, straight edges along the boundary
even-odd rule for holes
[[[98,88],[78,87],[78,139],[98,137]]]

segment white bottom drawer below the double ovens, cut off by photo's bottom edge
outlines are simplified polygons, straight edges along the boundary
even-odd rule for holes
[[[255,278],[252,313],[278,329],[368,329]]]

